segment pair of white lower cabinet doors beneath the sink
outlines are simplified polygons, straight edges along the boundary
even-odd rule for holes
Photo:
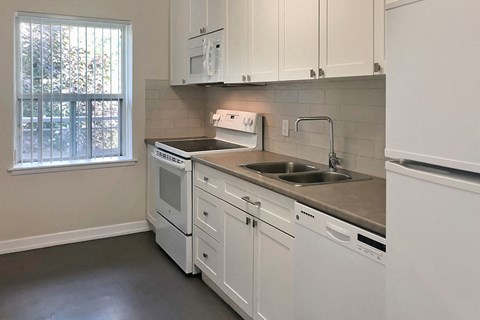
[[[293,319],[293,237],[226,206],[221,288],[253,319]]]

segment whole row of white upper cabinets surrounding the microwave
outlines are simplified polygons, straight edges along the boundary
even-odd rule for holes
[[[225,83],[385,73],[385,0],[176,0],[171,6],[172,85],[186,74],[185,40],[219,29]]]

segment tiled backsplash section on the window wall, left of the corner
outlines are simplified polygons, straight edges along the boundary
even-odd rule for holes
[[[205,135],[203,87],[170,87],[166,80],[147,80],[145,137],[177,138]]]

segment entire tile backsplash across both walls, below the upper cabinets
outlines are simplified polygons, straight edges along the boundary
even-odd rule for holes
[[[300,116],[329,116],[335,151],[346,169],[385,177],[385,78],[368,77],[274,83],[259,87],[169,87],[147,80],[146,137],[214,135],[216,109],[255,111],[264,116],[264,149],[328,163],[325,121],[294,122]],[[203,114],[201,114],[203,112]],[[289,136],[282,136],[282,120]]]

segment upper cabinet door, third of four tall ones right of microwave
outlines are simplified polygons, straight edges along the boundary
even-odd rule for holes
[[[318,0],[280,0],[279,80],[318,76]]]

